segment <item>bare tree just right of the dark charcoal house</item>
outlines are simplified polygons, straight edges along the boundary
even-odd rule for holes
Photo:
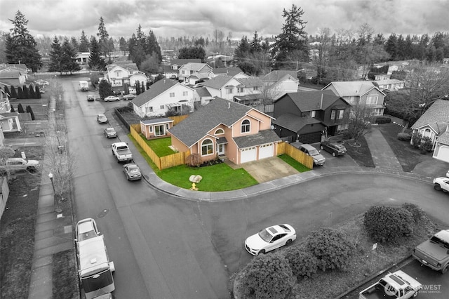
[[[368,105],[356,104],[351,107],[349,113],[348,133],[353,139],[354,145],[358,144],[358,139],[368,133],[371,128],[373,118],[373,109]]]

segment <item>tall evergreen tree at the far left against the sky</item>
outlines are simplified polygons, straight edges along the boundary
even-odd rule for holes
[[[18,11],[14,20],[10,20],[14,28],[6,37],[6,59],[8,63],[21,63],[27,65],[32,72],[37,72],[42,66],[41,55],[36,48],[34,37],[27,29],[28,20]]]

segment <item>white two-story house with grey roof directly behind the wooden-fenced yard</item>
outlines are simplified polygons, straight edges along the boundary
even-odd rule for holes
[[[140,117],[162,117],[166,112],[180,112],[187,105],[192,112],[194,90],[176,80],[162,79],[156,81],[145,93],[140,93],[130,102],[135,114]]]

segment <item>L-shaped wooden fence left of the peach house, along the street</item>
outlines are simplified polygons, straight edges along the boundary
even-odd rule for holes
[[[142,150],[147,153],[148,157],[152,159],[159,170],[185,164],[185,159],[189,156],[190,151],[177,152],[175,154],[170,154],[169,156],[158,157],[157,154],[152,150],[152,148],[147,145],[147,142],[145,142],[144,138],[142,138],[142,136],[140,135],[140,124],[132,124],[130,125],[129,129],[135,141],[138,142],[140,147],[142,147]]]

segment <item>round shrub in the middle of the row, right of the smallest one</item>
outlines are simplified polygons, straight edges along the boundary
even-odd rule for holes
[[[323,271],[346,270],[355,251],[347,235],[332,228],[321,228],[312,232],[305,244],[318,259],[318,267]]]

